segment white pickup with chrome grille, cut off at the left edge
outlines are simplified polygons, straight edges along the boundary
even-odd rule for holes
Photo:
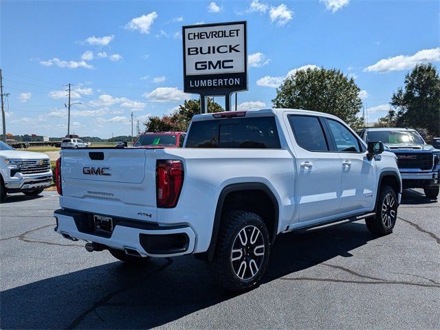
[[[0,201],[8,192],[34,196],[51,185],[52,170],[47,155],[17,151],[0,141]]]

